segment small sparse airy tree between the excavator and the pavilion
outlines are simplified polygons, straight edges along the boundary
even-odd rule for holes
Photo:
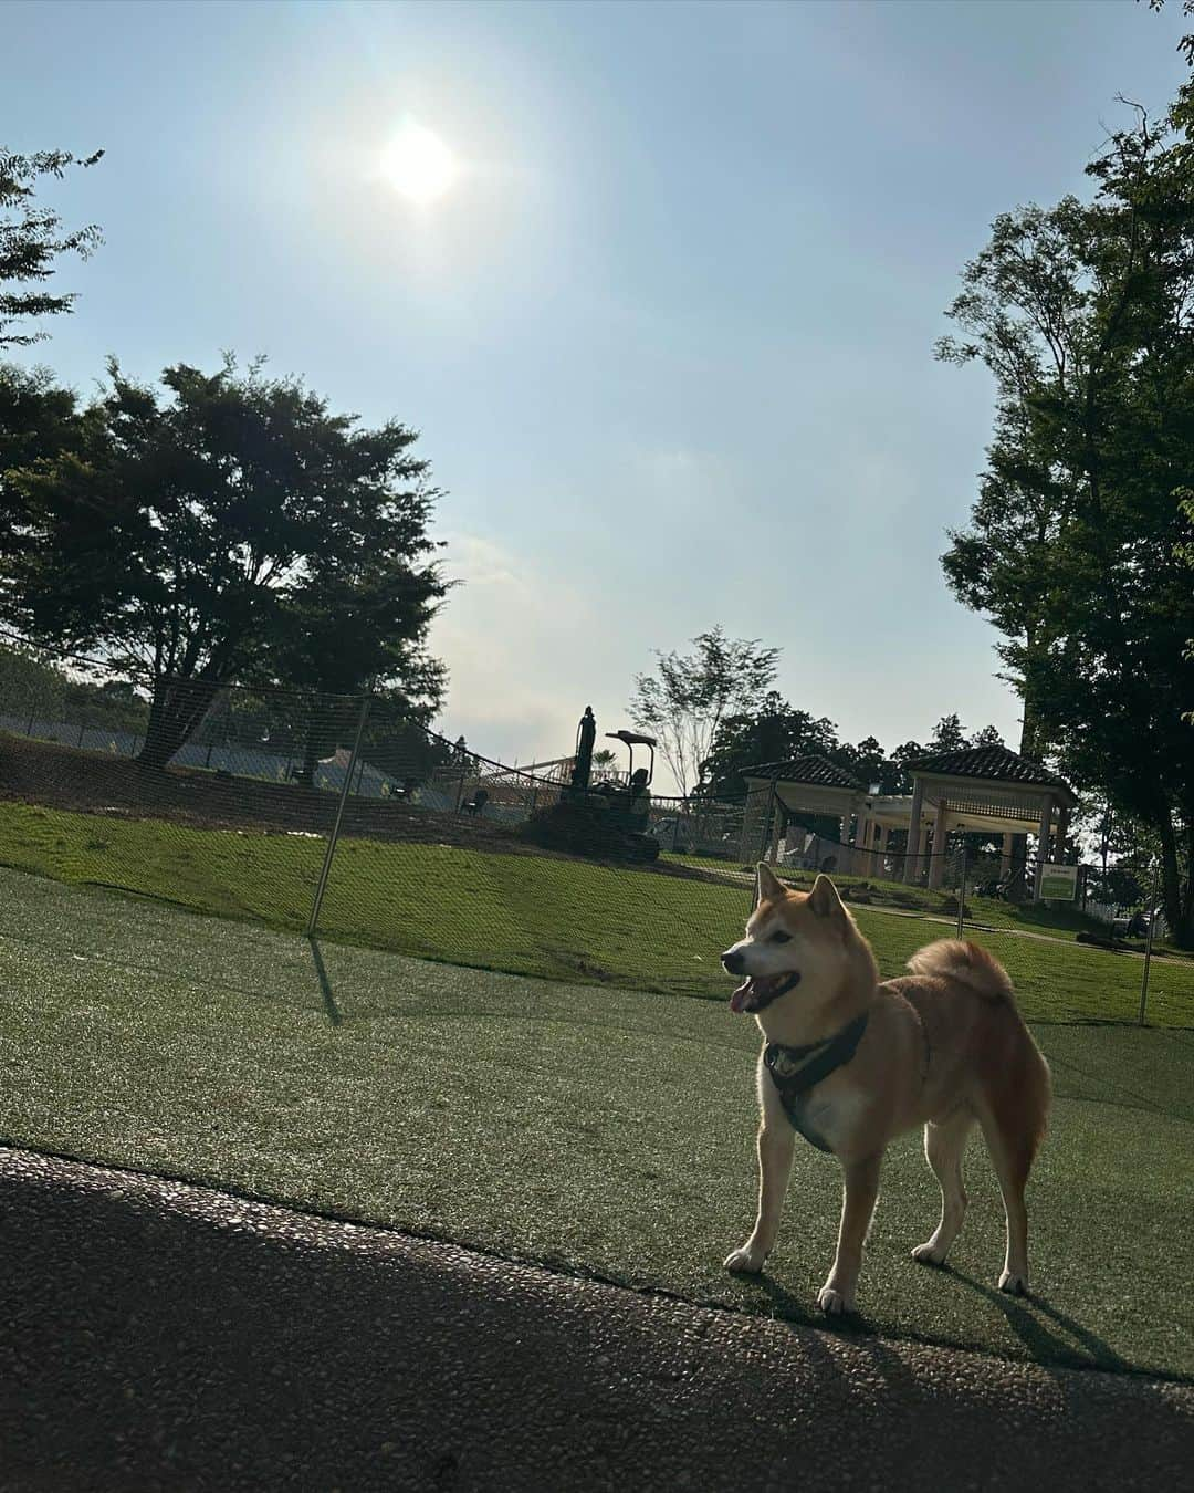
[[[721,627],[698,633],[693,651],[655,652],[654,673],[634,678],[630,718],[654,732],[676,787],[687,796],[700,781],[718,727],[727,715],[749,714],[775,681],[778,648],[727,638]]]

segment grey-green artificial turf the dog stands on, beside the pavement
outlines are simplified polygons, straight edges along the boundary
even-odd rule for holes
[[[0,873],[0,1136],[813,1320],[836,1163],[800,1147],[769,1274],[721,1269],[754,1208],[754,1024],[724,1002],[524,979]],[[937,1188],[893,1147],[860,1323],[840,1330],[1194,1377],[1191,1030],[1040,1026],[1052,1130],[1031,1300],[975,1142],[954,1269],[915,1266]]]

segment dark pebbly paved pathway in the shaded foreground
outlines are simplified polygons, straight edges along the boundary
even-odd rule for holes
[[[837,1338],[0,1150],[3,1493],[1124,1493],[1191,1465],[1191,1386]]]

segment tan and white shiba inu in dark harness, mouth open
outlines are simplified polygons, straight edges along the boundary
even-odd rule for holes
[[[942,939],[879,982],[875,956],[828,876],[793,891],[763,863],[746,936],[721,961],[745,975],[731,1011],[754,1015],[758,1062],[758,1218],[730,1271],[758,1272],[775,1245],[797,1130],[845,1171],[837,1254],[818,1303],[852,1311],[888,1142],[924,1126],[942,1218],[913,1260],[943,1265],[966,1214],[961,1157],[979,1124],[1007,1215],[1000,1290],[1028,1287],[1024,1184],[1045,1135],[1049,1067],[1016,1011],[1003,966]]]

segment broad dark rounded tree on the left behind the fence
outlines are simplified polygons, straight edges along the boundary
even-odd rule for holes
[[[415,431],[360,428],[260,363],[176,364],[161,390],[109,375],[79,445],[6,476],[0,618],[149,688],[145,761],[236,678],[301,664],[313,688],[437,688],[421,652],[445,593],[437,493]]]

